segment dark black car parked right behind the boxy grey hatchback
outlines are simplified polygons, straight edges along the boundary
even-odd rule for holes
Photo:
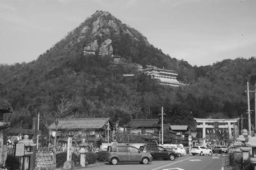
[[[144,146],[143,152],[150,153],[153,158],[163,158],[163,160],[174,160],[175,158],[179,157],[175,151],[166,150],[162,146]]]

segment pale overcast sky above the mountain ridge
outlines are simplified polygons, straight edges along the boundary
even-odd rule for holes
[[[0,63],[37,59],[97,10],[191,65],[256,56],[255,0],[0,0]]]

